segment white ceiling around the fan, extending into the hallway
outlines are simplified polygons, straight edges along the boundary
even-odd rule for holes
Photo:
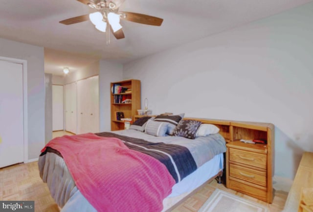
[[[93,10],[77,0],[0,0],[0,37],[45,47],[45,72],[102,59],[125,63],[262,19],[312,0],[125,0],[119,11],[164,19],[150,26],[121,20],[125,39],[106,45],[90,21],[59,21]],[[58,73],[57,73],[58,74]]]

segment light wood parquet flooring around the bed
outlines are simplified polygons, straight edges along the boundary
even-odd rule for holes
[[[270,212],[282,211],[288,195],[287,192],[274,191],[273,203],[268,204],[245,194],[227,189],[224,184],[218,184],[216,180],[213,180],[173,211],[197,212],[217,188],[266,205]],[[0,200],[35,200],[35,212],[60,211],[52,199],[47,185],[43,183],[39,176],[37,162],[17,164],[0,169]]]

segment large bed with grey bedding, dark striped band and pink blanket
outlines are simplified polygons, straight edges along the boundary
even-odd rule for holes
[[[188,119],[184,119],[184,120],[188,120]],[[148,120],[146,122],[146,124],[148,123],[147,126],[150,126],[152,122],[155,123],[156,121]],[[163,120],[159,122],[163,123]],[[177,122],[177,123],[180,123],[180,122]],[[204,123],[202,119],[201,124],[204,124]],[[209,123],[209,121],[207,121],[206,123]],[[166,124],[163,124],[163,125],[166,125]],[[145,126],[145,130],[149,132],[149,129],[147,128],[147,126]],[[221,129],[221,125],[217,125],[217,126],[219,126]],[[177,127],[179,127],[179,125],[176,126],[176,128]],[[165,128],[169,129],[169,125],[166,125]],[[191,193],[193,193],[196,189],[201,187],[201,185],[205,184],[207,181],[214,179],[216,176],[221,176],[223,168],[224,168],[223,153],[226,152],[225,139],[221,135],[224,133],[223,129],[221,129],[220,133],[214,133],[214,134],[209,134],[205,136],[197,136],[195,137],[195,139],[190,139],[190,138],[186,138],[183,136],[169,136],[167,134],[164,134],[163,136],[156,136],[156,135],[147,134],[147,132],[141,132],[138,129],[129,129],[129,130],[114,131],[114,132],[103,132],[103,133],[92,134],[92,135],[86,134],[86,135],[63,136],[63,137],[53,139],[52,142],[50,141],[49,142],[50,146],[48,143],[46,147],[43,149],[42,154],[39,157],[38,165],[39,165],[39,170],[40,170],[40,176],[42,177],[43,181],[47,183],[51,196],[54,198],[58,206],[62,208],[61,211],[62,212],[171,211],[183,199],[185,199]],[[107,141],[104,139],[111,139],[111,138],[119,139],[121,142],[123,142],[123,144],[121,145],[124,145],[124,144],[127,145],[127,148],[131,149],[131,151],[133,152],[139,151],[137,149],[143,149],[144,151],[139,153],[140,156],[143,154],[148,155],[147,152],[152,152],[153,154],[157,155],[157,156],[148,155],[147,157],[149,158],[152,158],[152,157],[157,158],[158,156],[161,155],[160,157],[162,158],[161,159],[158,158],[159,161],[157,162],[157,164],[162,164],[161,165],[162,167],[164,167],[165,165],[166,173],[162,173],[163,171],[160,171],[160,170],[157,170],[157,171],[152,170],[151,177],[154,177],[153,183],[156,183],[156,184],[153,184],[151,186],[149,184],[151,183],[150,181],[148,184],[145,184],[146,182],[143,182],[144,180],[140,181],[139,180],[140,176],[137,176],[136,173],[134,174],[125,173],[125,175],[127,175],[127,181],[131,182],[133,181],[133,178],[134,178],[134,181],[140,181],[138,184],[140,185],[139,186],[140,188],[138,188],[138,185],[137,187],[134,186],[133,188],[131,184],[127,184],[126,186],[125,184],[122,184],[122,183],[120,184],[121,185],[120,187],[129,187],[127,192],[130,192],[130,195],[126,195],[127,198],[129,196],[136,196],[135,201],[137,201],[139,197],[140,200],[138,203],[132,204],[132,202],[134,202],[134,199],[130,199],[130,200],[124,199],[126,198],[126,196],[124,197],[122,194],[126,190],[125,191],[121,190],[124,192],[117,193],[117,195],[114,195],[108,192],[103,192],[103,190],[101,190],[99,193],[95,193],[95,195],[97,195],[100,198],[100,199],[98,198],[98,200],[96,200],[95,202],[93,197],[90,198],[89,194],[88,193],[86,194],[86,191],[85,191],[86,188],[82,187],[82,186],[86,187],[86,184],[88,184],[89,181],[92,181],[92,180],[88,180],[87,183],[86,181],[82,183],[81,182],[82,177],[77,178],[75,177],[75,175],[73,177],[72,165],[69,166],[68,163],[69,161],[74,161],[75,163],[77,159],[73,159],[73,155],[68,157],[71,159],[66,159],[66,157],[63,155],[65,154],[65,152],[62,152],[63,151],[62,148],[60,148],[60,150],[56,150],[58,149],[57,147],[58,145],[66,146],[67,141],[65,141],[64,139],[75,140],[80,137],[83,137],[85,139],[84,136],[88,138],[90,137],[94,139],[99,139],[99,143],[106,143]],[[143,142],[147,142],[147,144]],[[56,144],[56,146],[53,146],[53,144]],[[54,147],[57,147],[57,148],[54,149]],[[70,146],[69,148],[71,147],[72,146]],[[152,150],[150,148],[160,148],[160,149]],[[182,150],[187,150],[184,153],[185,155],[183,156],[175,155],[177,154],[176,152],[178,151],[181,152],[179,150],[180,148]],[[164,156],[163,155],[164,153],[160,154],[160,152],[163,152],[163,150],[166,155],[168,154],[168,156]],[[171,153],[167,152],[168,150],[170,150],[169,152]],[[101,154],[103,154],[104,151],[105,150],[101,149],[100,151],[102,152]],[[67,151],[67,152],[71,152],[71,151]],[[79,154],[81,154],[81,152],[79,152]],[[135,154],[137,155],[137,153]],[[190,162],[190,161],[188,162],[188,157],[190,157],[190,155],[191,155],[191,160],[194,162]],[[76,155],[74,156],[76,157]],[[166,162],[163,161],[165,157],[169,158],[168,161]],[[102,165],[103,164],[101,164],[101,166]],[[131,166],[131,165],[128,165],[128,166]],[[152,168],[154,165],[149,164],[148,166],[149,168]],[[100,167],[98,162],[97,162],[97,167]],[[113,167],[116,167],[116,166],[113,166]],[[106,169],[106,168],[103,167],[103,169]],[[127,168],[122,168],[122,170],[119,170],[119,173],[121,174],[118,174],[117,178],[119,178],[120,175],[123,175],[124,172],[126,172],[126,169]],[[111,170],[111,168],[108,168],[108,170]],[[80,171],[78,170],[78,172]],[[89,171],[89,172],[92,172],[92,171]],[[148,171],[145,170],[144,173],[146,172]],[[156,176],[155,173],[160,174],[161,177]],[[169,173],[171,177],[168,177]],[[99,174],[95,174],[95,175],[99,175]],[[101,178],[102,176],[97,176],[97,177]],[[150,178],[150,175],[149,175],[149,178]],[[105,179],[107,180],[107,178]],[[114,180],[113,180],[114,183],[111,183],[111,184],[113,185],[114,189],[118,190],[118,187],[116,187],[115,185],[119,183],[116,183],[116,179]],[[157,181],[157,180],[160,180],[160,181]],[[109,183],[110,181],[106,181],[106,182]],[[164,188],[163,188],[163,184],[164,184]],[[148,194],[146,194],[145,186],[149,187],[149,189],[150,188],[161,189],[162,192],[163,190],[164,192],[159,193],[158,190],[153,190],[153,191],[148,191]],[[141,187],[143,187],[144,189]],[[168,187],[170,187],[170,190],[168,190],[169,189]],[[144,191],[140,189],[143,189]],[[85,193],[83,194],[83,192],[81,191]],[[93,192],[94,192],[94,189],[92,190],[91,193]],[[142,195],[142,193],[145,193],[144,196]],[[153,195],[150,196],[149,199],[145,199],[145,196],[149,195],[149,193],[150,194],[153,193]],[[109,199],[107,199],[106,195],[117,196],[116,198],[119,198],[119,200],[116,200],[117,203],[115,203],[115,205],[114,203],[112,203],[112,205],[114,205],[113,208],[107,208],[106,206],[104,206],[105,203],[103,203],[102,205],[97,205],[99,202],[103,202],[103,201],[104,202],[115,201],[115,199],[112,199],[115,197],[112,197],[112,198],[110,197]],[[151,199],[154,199],[155,196],[157,196],[156,201],[158,201],[159,204],[161,204],[161,206],[158,208],[151,208],[151,207],[144,208],[144,206],[146,205],[156,204],[156,203],[151,203],[152,201]],[[121,206],[121,208],[118,208],[120,205],[123,205],[123,207]],[[130,205],[137,205],[139,208],[131,208]]]

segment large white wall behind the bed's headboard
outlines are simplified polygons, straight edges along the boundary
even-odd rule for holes
[[[313,151],[313,3],[124,65],[153,114],[270,122],[275,175]],[[209,20],[208,20],[209,21]]]

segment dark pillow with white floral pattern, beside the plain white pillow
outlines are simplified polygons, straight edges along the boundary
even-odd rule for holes
[[[201,123],[201,121],[196,120],[181,120],[175,128],[173,135],[195,139],[197,129],[199,128]]]

